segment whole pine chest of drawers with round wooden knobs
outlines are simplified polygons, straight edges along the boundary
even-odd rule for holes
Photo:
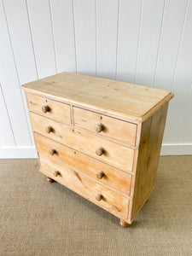
[[[74,73],[22,88],[40,172],[131,224],[154,189],[172,92]]]

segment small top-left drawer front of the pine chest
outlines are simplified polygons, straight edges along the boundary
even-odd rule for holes
[[[44,117],[54,119],[66,125],[71,124],[69,105],[30,93],[26,93],[26,99],[29,111],[39,113]]]

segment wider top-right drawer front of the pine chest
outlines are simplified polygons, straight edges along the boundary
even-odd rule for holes
[[[137,125],[73,107],[74,125],[135,146]]]

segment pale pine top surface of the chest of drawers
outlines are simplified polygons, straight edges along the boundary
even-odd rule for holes
[[[66,72],[22,87],[27,91],[45,93],[67,102],[101,108],[141,121],[173,96],[168,90]]]

